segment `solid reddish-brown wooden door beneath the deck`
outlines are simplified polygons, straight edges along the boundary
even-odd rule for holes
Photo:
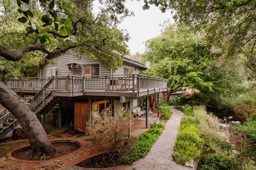
[[[88,103],[75,102],[74,129],[85,131],[88,122]]]

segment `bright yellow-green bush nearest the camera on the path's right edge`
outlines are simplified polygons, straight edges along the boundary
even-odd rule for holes
[[[183,140],[177,140],[173,150],[173,160],[181,165],[185,165],[186,161],[190,162],[192,159],[196,159],[201,153],[201,150],[196,147],[195,143]]]

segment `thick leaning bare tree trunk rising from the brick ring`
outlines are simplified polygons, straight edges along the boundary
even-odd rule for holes
[[[27,103],[1,81],[0,104],[16,117],[26,132],[32,148],[32,159],[37,159],[43,154],[50,156],[53,146],[33,113],[32,104]]]

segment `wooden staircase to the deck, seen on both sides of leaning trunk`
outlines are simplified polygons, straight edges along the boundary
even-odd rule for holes
[[[32,99],[29,99],[28,102],[33,105],[36,115],[48,113],[61,101],[60,97],[54,96],[53,86],[53,79],[50,79]],[[0,111],[0,139],[17,125],[19,125],[19,122],[7,109]]]

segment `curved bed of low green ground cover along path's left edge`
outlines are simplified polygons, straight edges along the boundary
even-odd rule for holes
[[[87,159],[77,166],[84,168],[109,168],[120,165],[132,164],[139,158],[143,158],[151,149],[162,133],[165,125],[163,123],[153,123],[150,128],[140,134],[138,137],[132,138],[120,153],[104,153]]]

